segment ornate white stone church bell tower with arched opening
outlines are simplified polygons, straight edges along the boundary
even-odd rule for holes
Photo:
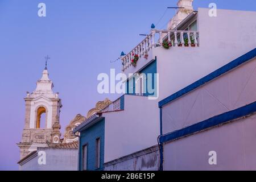
[[[60,108],[59,93],[53,93],[53,82],[49,80],[47,67],[42,78],[36,82],[34,92],[27,92],[25,125],[20,148],[20,159],[38,147],[60,143]]]

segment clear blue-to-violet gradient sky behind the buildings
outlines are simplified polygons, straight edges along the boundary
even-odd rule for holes
[[[47,17],[38,16],[38,3]],[[49,55],[49,77],[60,92],[62,131],[76,114],[86,115],[97,101],[116,95],[97,93],[97,76],[121,63],[110,63],[129,52],[157,24],[166,7],[177,0],[0,0],[0,170],[18,169],[24,127],[26,91],[32,92]],[[218,9],[256,11],[255,0],[195,0],[194,9],[215,2]],[[156,28],[166,28],[168,10]],[[209,35],[210,36],[210,35]]]

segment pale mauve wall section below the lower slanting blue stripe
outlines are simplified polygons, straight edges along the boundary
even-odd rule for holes
[[[164,144],[164,170],[256,170],[256,115]],[[209,164],[216,151],[217,165]]]

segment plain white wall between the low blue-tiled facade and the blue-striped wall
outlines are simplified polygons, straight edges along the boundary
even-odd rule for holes
[[[125,111],[104,113],[104,163],[155,146],[160,133],[158,102],[125,96]]]

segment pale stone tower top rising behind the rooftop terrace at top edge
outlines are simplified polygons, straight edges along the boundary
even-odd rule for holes
[[[182,20],[187,18],[187,16],[194,11],[192,3],[193,0],[179,0],[177,2],[177,7],[184,7],[184,9],[177,9],[177,13],[168,23],[168,30],[173,30],[176,25],[182,22]]]

